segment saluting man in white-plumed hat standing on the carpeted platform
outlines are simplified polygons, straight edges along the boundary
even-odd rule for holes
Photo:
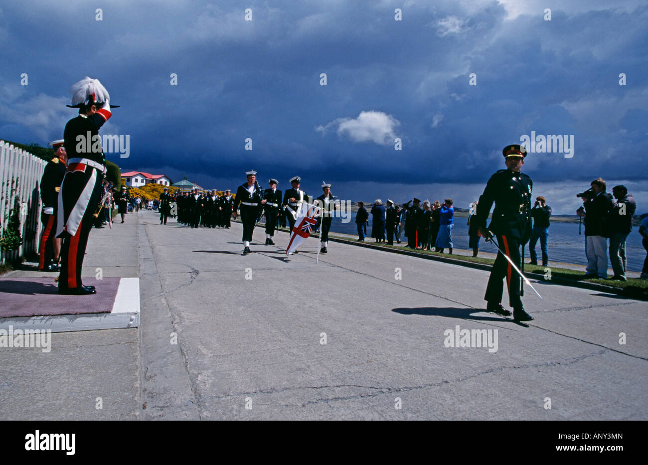
[[[85,295],[97,293],[94,286],[82,284],[81,270],[106,173],[99,128],[110,118],[111,105],[108,91],[97,79],[86,76],[70,92],[68,107],[78,108],[79,114],[67,122],[63,134],[69,159],[58,195],[56,237],[63,239],[58,291]]]

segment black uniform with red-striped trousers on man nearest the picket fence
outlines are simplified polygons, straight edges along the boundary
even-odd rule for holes
[[[54,258],[54,233],[56,232],[56,209],[58,207],[58,191],[65,176],[65,162],[59,157],[54,157],[45,165],[43,177],[41,177],[40,191],[43,209],[52,208],[54,212],[50,215],[45,212],[41,215],[43,223],[43,234],[41,235],[40,246],[38,247],[38,269],[50,271]]]

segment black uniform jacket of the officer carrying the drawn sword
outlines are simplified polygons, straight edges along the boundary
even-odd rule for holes
[[[495,203],[488,229],[493,234],[511,236],[526,243],[531,237],[532,189],[533,180],[526,174],[498,170],[481,194],[474,218],[477,226],[486,228],[488,214]]]

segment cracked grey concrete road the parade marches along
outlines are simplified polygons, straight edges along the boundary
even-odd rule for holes
[[[645,302],[534,282],[516,324],[481,311],[485,271],[140,219],[143,419],[648,418]],[[446,346],[457,325],[491,346]]]

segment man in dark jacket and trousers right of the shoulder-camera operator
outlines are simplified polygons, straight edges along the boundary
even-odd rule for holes
[[[616,202],[610,210],[610,262],[614,276],[612,279],[627,281],[625,277],[625,238],[632,231],[632,216],[637,209],[634,197],[628,194],[628,188],[619,185],[612,188]]]

